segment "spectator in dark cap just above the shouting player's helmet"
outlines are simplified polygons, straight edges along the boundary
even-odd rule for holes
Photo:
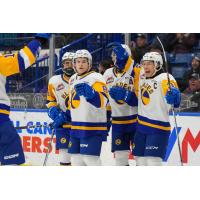
[[[131,49],[132,57],[136,63],[140,63],[143,55],[148,51],[148,44],[146,35],[143,33],[138,33],[136,38],[135,47]]]

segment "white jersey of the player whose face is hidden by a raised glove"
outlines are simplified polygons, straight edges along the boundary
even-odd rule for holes
[[[107,69],[104,73],[104,79],[108,86],[108,90],[113,86],[120,86],[127,90],[135,90],[135,81],[133,78],[134,60],[129,57],[122,73],[117,72],[116,68]],[[112,128],[115,131],[133,131],[137,121],[137,106],[129,106],[122,101],[115,101],[109,96],[112,116]],[[128,125],[128,126],[127,126]]]

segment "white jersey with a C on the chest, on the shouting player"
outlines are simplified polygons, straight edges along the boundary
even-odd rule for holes
[[[170,83],[177,87],[177,83],[169,74]],[[165,95],[168,91],[167,74],[160,73],[154,78],[145,78],[141,69],[138,93],[138,129],[144,133],[170,131],[169,109]]]

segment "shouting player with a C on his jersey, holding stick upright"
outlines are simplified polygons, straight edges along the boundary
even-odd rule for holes
[[[179,107],[180,91],[172,75],[163,71],[157,52],[146,53],[139,74],[138,127],[133,153],[137,165],[162,165],[170,135],[169,108]]]

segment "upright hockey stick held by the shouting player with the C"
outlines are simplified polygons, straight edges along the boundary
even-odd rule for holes
[[[168,85],[169,85],[169,90],[171,91],[171,84],[170,84],[170,78],[169,78],[169,68],[168,68],[165,49],[164,49],[164,46],[163,46],[163,44],[162,44],[162,42],[161,42],[161,40],[160,40],[160,38],[158,36],[157,36],[157,40],[159,41],[159,43],[161,45],[161,48],[162,48],[162,51],[163,51],[164,61],[165,61],[165,68],[166,68],[166,73],[167,73],[167,82],[168,82]],[[176,137],[177,137],[177,140],[178,140],[178,149],[179,149],[180,162],[181,162],[181,166],[183,166],[181,145],[180,145],[180,139],[179,139],[179,134],[178,134],[178,125],[177,125],[176,114],[175,114],[175,109],[174,109],[173,105],[172,105],[171,109],[172,109],[172,114],[173,114],[173,118],[174,118]]]

